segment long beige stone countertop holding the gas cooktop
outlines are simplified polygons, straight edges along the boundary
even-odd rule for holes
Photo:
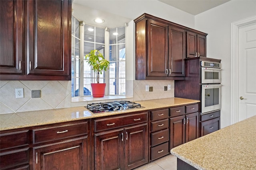
[[[134,101],[141,104],[143,108],[128,109],[122,111],[113,111],[94,114],[86,107],[70,107],[63,109],[50,109],[40,111],[26,111],[19,113],[0,114],[0,130],[17,129],[22,127],[31,127],[37,125],[46,125],[51,123],[60,123],[66,121],[90,119],[108,115],[118,115],[134,111],[144,111],[164,107],[179,106],[200,102],[199,100],[190,100],[183,98],[166,98],[157,100]]]

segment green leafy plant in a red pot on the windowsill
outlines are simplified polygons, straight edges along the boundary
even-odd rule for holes
[[[97,73],[97,83],[91,83],[92,96],[95,98],[104,97],[106,83],[100,83],[100,74],[102,74],[103,71],[108,70],[110,63],[98,50],[92,50],[85,56],[85,59],[88,59],[86,62],[89,64],[89,66],[92,66],[92,70]]]

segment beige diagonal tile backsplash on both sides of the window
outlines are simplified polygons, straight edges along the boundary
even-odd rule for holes
[[[128,81],[127,93],[133,101],[174,97],[174,80]],[[164,91],[164,86],[171,90]],[[153,87],[146,92],[146,85]],[[131,88],[133,86],[133,88]],[[24,98],[16,98],[15,89],[24,89]],[[32,90],[41,90],[40,98],[31,98]],[[133,93],[132,93],[133,92]],[[71,103],[71,81],[0,81],[0,113],[16,113],[75,106]],[[83,105],[84,106],[84,105]]]

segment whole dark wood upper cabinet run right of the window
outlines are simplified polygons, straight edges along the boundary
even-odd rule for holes
[[[196,34],[200,54],[206,54],[201,52],[206,50],[206,33],[149,14],[142,14],[134,22],[136,80],[184,80],[186,31]]]

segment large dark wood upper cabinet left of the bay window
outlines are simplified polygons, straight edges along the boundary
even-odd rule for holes
[[[1,80],[71,80],[71,7],[71,0],[1,1],[12,35],[1,24]]]

